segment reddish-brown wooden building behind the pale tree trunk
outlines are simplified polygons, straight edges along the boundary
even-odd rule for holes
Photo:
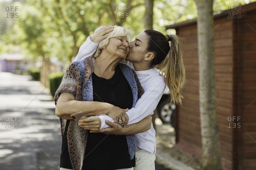
[[[184,38],[187,75],[176,116],[176,146],[197,155],[202,151],[197,20],[166,27],[170,28]],[[223,170],[256,170],[256,2],[215,14],[213,28]]]

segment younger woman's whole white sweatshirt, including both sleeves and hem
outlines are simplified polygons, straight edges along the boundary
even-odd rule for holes
[[[93,55],[93,53],[95,53],[98,44],[92,42],[90,38],[91,36],[88,37],[85,43],[80,47],[78,55],[74,61],[84,60],[85,58],[90,57]],[[126,62],[126,64],[130,68],[134,69],[134,66],[131,62]],[[156,106],[158,105],[158,102],[160,101],[166,86],[163,77],[159,74],[159,71],[156,68],[135,72],[139,78],[139,81],[141,82],[144,93],[136,102],[135,107],[129,109],[128,112],[126,112],[126,114],[129,116],[129,124],[137,123],[148,115],[152,115],[154,113],[154,110],[156,109]],[[114,120],[106,114],[99,115],[98,117],[101,119],[100,129],[109,127],[105,120],[114,122]],[[147,130],[143,133],[137,133],[136,138],[137,146],[139,148],[151,153],[156,152],[156,132],[152,123],[150,130]]]

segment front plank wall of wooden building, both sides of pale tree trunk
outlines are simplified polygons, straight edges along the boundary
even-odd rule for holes
[[[218,25],[219,24],[219,25]],[[231,170],[233,164],[233,129],[229,128],[228,117],[233,116],[233,42],[232,20],[218,18],[214,22],[215,46],[215,87],[217,119],[219,122],[222,165]],[[187,85],[183,90],[184,100],[178,107],[178,144],[201,151],[199,79],[198,79],[198,42],[196,24],[180,27],[177,34],[184,38],[184,64]],[[202,42],[203,43],[203,42]],[[232,122],[230,122],[230,127]],[[199,153],[198,152],[198,153]]]

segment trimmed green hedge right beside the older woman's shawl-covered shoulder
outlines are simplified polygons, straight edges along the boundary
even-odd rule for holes
[[[59,85],[61,84],[63,75],[64,75],[64,73],[49,74],[50,92],[51,92],[52,97],[54,97],[56,90],[59,88]]]

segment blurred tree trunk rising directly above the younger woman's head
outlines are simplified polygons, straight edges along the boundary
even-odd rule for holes
[[[153,1],[145,0],[144,27],[145,30],[153,29]]]

